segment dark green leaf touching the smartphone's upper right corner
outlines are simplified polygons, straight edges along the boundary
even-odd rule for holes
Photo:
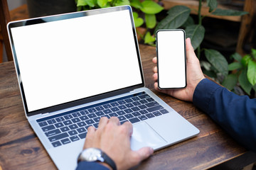
[[[186,31],[186,38],[191,38],[193,49],[196,50],[196,48],[203,41],[204,34],[206,32],[205,28],[201,25],[192,25],[192,26],[187,26],[185,31]]]

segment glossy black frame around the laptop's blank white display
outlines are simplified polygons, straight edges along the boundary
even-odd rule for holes
[[[62,21],[62,20],[70,19],[70,18],[79,18],[79,17],[84,17],[84,16],[92,16],[92,15],[97,15],[97,14],[102,14],[102,13],[110,13],[110,12],[122,11],[122,10],[129,10],[129,16],[130,16],[131,24],[132,24],[132,33],[134,35],[134,43],[135,43],[135,47],[137,50],[137,60],[139,62],[139,70],[140,70],[140,74],[141,74],[141,78],[142,78],[142,83],[136,84],[134,86],[124,87],[122,89],[117,89],[114,91],[109,91],[104,94],[98,94],[95,96],[81,98],[76,101],[70,101],[67,103],[58,104],[56,106],[50,106],[48,108],[42,108],[42,109],[39,109],[36,111],[28,111],[28,106],[26,103],[26,96],[25,96],[24,89],[23,89],[23,82],[21,80],[21,72],[18,67],[18,60],[16,57],[16,51],[15,51],[15,47],[14,47],[14,40],[13,40],[12,34],[11,34],[11,28],[28,26],[28,25],[38,24],[38,23],[45,23],[45,22]],[[139,53],[139,44],[137,41],[136,29],[135,29],[135,25],[134,25],[133,16],[132,16],[132,8],[130,6],[117,6],[117,7],[111,7],[111,8],[101,8],[101,9],[95,9],[95,10],[90,10],[90,11],[65,13],[65,14],[60,14],[60,15],[55,15],[55,16],[45,16],[45,17],[39,17],[39,18],[31,18],[31,19],[23,20],[23,21],[14,21],[14,22],[9,23],[7,25],[7,28],[8,28],[8,32],[9,32],[9,40],[11,43],[11,50],[12,50],[13,57],[14,57],[14,64],[16,67],[18,84],[19,84],[19,87],[21,90],[21,98],[23,100],[23,106],[24,106],[25,113],[28,117],[31,115],[36,115],[36,114],[40,114],[40,113],[41,114],[51,113],[54,111],[63,110],[65,108],[71,108],[73,106],[79,106],[79,105],[82,105],[85,103],[90,103],[92,101],[97,101],[97,100],[100,100],[103,98],[116,96],[118,94],[124,94],[129,91],[133,91],[134,89],[144,87],[144,75],[143,75],[143,69],[142,69],[142,61],[141,61],[141,57],[140,57],[140,53]]]

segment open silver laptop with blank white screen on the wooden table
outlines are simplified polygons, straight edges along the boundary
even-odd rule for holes
[[[154,150],[199,133],[144,85],[132,8],[8,24],[26,118],[58,169],[75,169],[102,116],[133,123],[131,147]]]

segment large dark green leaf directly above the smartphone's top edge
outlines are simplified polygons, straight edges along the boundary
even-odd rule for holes
[[[191,9],[187,6],[174,6],[168,11],[168,16],[161,20],[154,30],[156,33],[160,29],[176,29],[183,25],[188,19]]]

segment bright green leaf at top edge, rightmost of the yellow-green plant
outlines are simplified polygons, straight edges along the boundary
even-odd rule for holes
[[[163,10],[164,8],[154,1],[143,1],[142,2],[142,12],[147,14],[156,14]]]

